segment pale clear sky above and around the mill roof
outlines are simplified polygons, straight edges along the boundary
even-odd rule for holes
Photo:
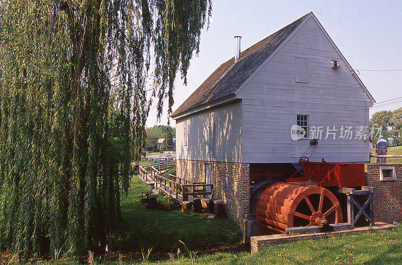
[[[313,12],[354,69],[402,69],[401,1],[213,1],[209,30],[202,32],[198,57],[191,60],[187,86],[176,81],[174,107],[223,62],[234,56],[234,36],[242,36],[242,51],[275,31]],[[360,71],[360,79],[377,102],[402,97],[402,71]],[[371,108],[402,107],[396,103]],[[152,109],[147,126],[156,123]],[[166,124],[163,113],[160,124]],[[174,126],[174,120],[171,120]]]

